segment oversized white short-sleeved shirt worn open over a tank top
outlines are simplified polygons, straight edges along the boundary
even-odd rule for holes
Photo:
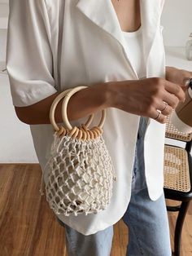
[[[146,77],[165,77],[160,16],[164,0],[140,0]],[[110,0],[11,0],[7,33],[7,73],[13,104],[28,106],[69,87],[138,79]],[[81,125],[87,117],[71,121]],[[95,115],[93,126],[100,115]],[[98,214],[59,218],[89,235],[119,221],[129,204],[140,117],[108,108],[103,139],[117,181],[111,203]],[[53,127],[30,126],[41,168],[50,157]],[[151,200],[164,184],[165,125],[149,118],[144,140],[146,183]],[[47,177],[45,176],[47,183]]]

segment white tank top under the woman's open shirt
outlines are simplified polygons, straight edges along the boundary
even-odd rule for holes
[[[142,50],[142,26],[134,32],[124,32],[124,38],[127,42],[126,51],[137,76],[139,78],[146,77],[146,65],[144,63],[144,53]]]

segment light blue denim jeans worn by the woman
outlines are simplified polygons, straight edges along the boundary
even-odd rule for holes
[[[145,130],[146,119],[141,117],[133,166],[132,196],[122,218],[129,227],[126,256],[171,256],[164,194],[157,201],[151,201],[146,188],[143,158]],[[69,256],[110,256],[113,226],[93,235],[84,236],[61,222],[59,218],[58,221],[65,227]]]

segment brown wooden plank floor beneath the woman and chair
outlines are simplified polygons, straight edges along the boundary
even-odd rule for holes
[[[0,255],[65,256],[64,228],[55,220],[45,196],[40,196],[37,164],[0,165]],[[171,239],[177,213],[170,213]],[[111,256],[124,256],[127,228],[114,226]],[[185,218],[181,256],[192,255],[192,205]],[[91,255],[90,255],[91,256]]]

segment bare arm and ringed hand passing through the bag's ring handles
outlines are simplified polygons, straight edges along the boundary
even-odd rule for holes
[[[127,113],[155,118],[157,109],[163,109],[165,101],[168,108],[161,112],[162,118],[158,120],[165,123],[172,109],[176,108],[180,100],[185,100],[185,89],[185,86],[182,88],[179,84],[159,77],[100,83],[72,95],[67,108],[68,120],[88,117],[104,108],[119,108]],[[57,95],[59,93],[28,107],[15,108],[17,116],[29,125],[50,124],[50,106]],[[63,122],[62,102],[61,99],[55,109],[56,123]]]

